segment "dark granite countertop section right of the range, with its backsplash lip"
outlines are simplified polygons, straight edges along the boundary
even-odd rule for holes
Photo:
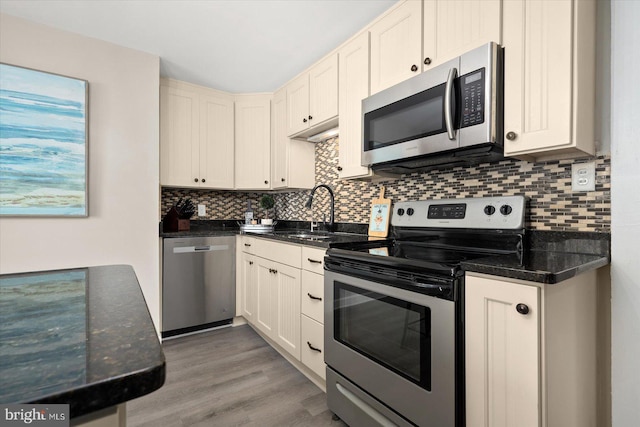
[[[523,259],[503,255],[464,261],[465,271],[554,284],[611,261],[608,233],[530,231]]]

